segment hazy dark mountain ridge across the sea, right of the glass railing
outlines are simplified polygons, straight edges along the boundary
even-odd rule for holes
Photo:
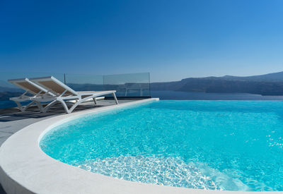
[[[175,82],[151,83],[151,90],[283,95],[283,71],[246,77],[225,75],[223,77],[185,78]]]

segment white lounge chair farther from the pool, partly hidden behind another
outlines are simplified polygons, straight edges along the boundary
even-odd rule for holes
[[[45,88],[41,87],[40,85],[37,85],[33,82],[31,82],[30,80],[28,80],[28,78],[21,78],[21,79],[13,79],[13,80],[8,80],[9,83],[16,85],[17,87],[20,87],[22,90],[25,90],[25,92],[23,92],[23,95],[19,96],[19,97],[11,97],[10,100],[12,100],[13,102],[16,102],[17,104],[17,108],[21,111],[25,111],[26,109],[28,109],[28,107],[30,107],[33,104],[37,104],[37,107],[40,109],[40,111],[42,111],[42,105],[38,102],[35,102],[33,100],[31,100],[31,97],[43,97],[43,96],[54,96],[54,94],[52,94],[51,92],[48,92],[47,90],[45,90]],[[30,93],[30,95],[26,95]],[[26,106],[23,106],[21,104],[21,102],[29,102]]]

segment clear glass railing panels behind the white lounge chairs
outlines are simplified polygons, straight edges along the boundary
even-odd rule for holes
[[[20,73],[0,72],[0,109],[16,107],[9,100],[24,91],[8,83],[10,79],[54,76],[76,91],[116,90],[117,97],[150,97],[149,73],[128,73],[118,75],[90,75],[71,73]]]

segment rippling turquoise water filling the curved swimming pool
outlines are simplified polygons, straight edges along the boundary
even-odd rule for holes
[[[152,102],[64,123],[40,147],[61,162],[129,181],[283,190],[283,102]]]

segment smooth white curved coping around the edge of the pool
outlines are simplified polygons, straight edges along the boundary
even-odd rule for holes
[[[92,173],[49,157],[39,147],[47,131],[87,114],[158,101],[142,99],[45,119],[11,135],[0,147],[0,182],[6,193],[282,193],[202,190],[125,181]]]

